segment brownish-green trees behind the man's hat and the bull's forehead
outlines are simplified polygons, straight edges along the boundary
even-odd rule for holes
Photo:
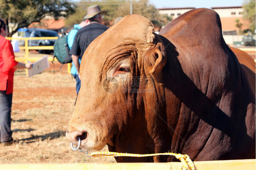
[[[81,0],[77,3],[78,10],[76,13],[70,15],[65,23],[67,27],[80,23],[82,16],[86,14],[87,7],[97,4],[102,10],[108,11],[108,15],[105,15],[103,18],[103,22],[105,25],[111,26],[118,17],[130,14],[131,3],[133,14],[145,16],[157,27],[166,25],[172,20],[171,17],[160,15],[154,5],[149,4],[148,0]]]

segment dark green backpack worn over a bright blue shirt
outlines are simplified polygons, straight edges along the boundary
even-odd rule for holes
[[[78,30],[77,28],[73,28]],[[69,47],[67,44],[67,35],[64,33],[59,37],[53,45],[53,60],[56,59],[62,63],[72,63],[71,55],[69,55]]]

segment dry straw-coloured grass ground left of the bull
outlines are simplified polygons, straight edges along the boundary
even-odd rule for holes
[[[115,162],[71,150],[65,131],[74,110],[75,84],[65,71],[28,78],[24,70],[16,70],[11,129],[17,143],[1,146],[0,163]]]

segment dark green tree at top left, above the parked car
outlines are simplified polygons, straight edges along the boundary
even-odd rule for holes
[[[71,0],[0,0],[0,18],[15,23],[10,36],[19,28],[28,27],[32,22],[40,22],[46,16],[55,20],[75,12],[76,5]]]

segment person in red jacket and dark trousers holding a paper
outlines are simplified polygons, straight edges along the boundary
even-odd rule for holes
[[[15,61],[12,45],[5,39],[7,35],[7,25],[0,19],[0,142],[2,145],[10,145],[13,142],[10,112],[15,69],[31,69],[33,65]]]

